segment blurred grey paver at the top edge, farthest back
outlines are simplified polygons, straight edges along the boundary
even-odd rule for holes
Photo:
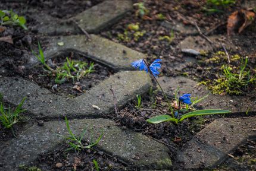
[[[70,18],[70,20],[77,21],[79,26],[88,33],[98,33],[120,20],[130,9],[132,9],[130,0],[107,0]]]

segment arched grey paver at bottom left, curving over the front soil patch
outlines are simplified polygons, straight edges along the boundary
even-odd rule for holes
[[[77,135],[87,126],[93,129],[93,134],[96,134],[94,137],[98,137],[103,130],[102,140],[96,148],[137,167],[151,169],[171,167],[167,147],[130,129],[123,130],[113,121],[80,119],[70,121],[70,126]],[[39,154],[51,152],[58,144],[64,143],[57,134],[67,134],[65,122],[54,121],[45,122],[43,126],[34,125],[18,135],[17,139],[2,144],[0,169],[18,170],[20,164],[37,165],[36,158]],[[89,132],[86,133],[84,140],[90,140]]]

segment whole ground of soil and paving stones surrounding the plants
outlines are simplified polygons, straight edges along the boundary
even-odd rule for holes
[[[97,170],[93,161],[99,170],[255,170],[256,19],[227,36],[232,12],[255,7],[242,0],[1,1],[0,10],[23,15],[28,30],[0,26],[5,111],[27,97],[24,122],[13,131],[0,122],[0,170]],[[33,55],[38,42],[52,69]],[[93,72],[58,83],[67,58],[93,63]],[[204,98],[189,111],[231,113],[149,124],[146,119],[171,112],[150,74],[131,71],[139,59],[162,59],[157,80],[174,110],[177,98],[191,93],[193,100]],[[90,150],[65,151],[70,146],[58,136],[68,135],[64,116],[76,135],[93,126],[82,143],[101,130],[102,139]]]

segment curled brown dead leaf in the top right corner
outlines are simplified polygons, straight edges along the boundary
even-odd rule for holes
[[[255,20],[255,13],[241,9],[229,15],[227,20],[227,35],[241,33]]]

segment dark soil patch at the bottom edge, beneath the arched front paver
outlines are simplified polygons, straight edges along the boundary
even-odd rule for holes
[[[52,153],[42,154],[39,159],[39,168],[42,170],[95,170],[93,160],[96,160],[100,170],[131,170],[125,163],[116,157],[108,156],[102,151],[82,150],[80,152],[67,150],[63,144]],[[43,164],[42,164],[43,163]],[[58,166],[61,163],[61,167]],[[136,170],[133,168],[132,170]]]

